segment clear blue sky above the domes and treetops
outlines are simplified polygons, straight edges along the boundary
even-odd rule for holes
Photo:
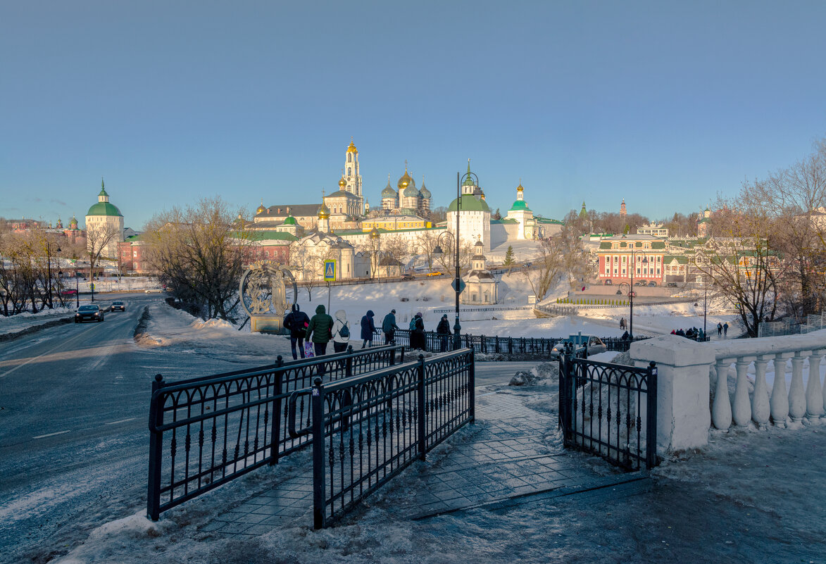
[[[364,192],[409,162],[446,206],[472,168],[505,211],[652,219],[826,135],[826,2],[6,2],[0,216],[126,225],[220,195]]]

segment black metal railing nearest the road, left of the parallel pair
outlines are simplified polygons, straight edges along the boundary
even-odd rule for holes
[[[334,382],[404,362],[401,346],[376,347],[195,377],[166,384],[159,374],[150,401],[147,515],[274,464],[308,442],[287,433],[285,402],[312,378]],[[297,418],[311,423],[301,398]],[[274,447],[273,447],[274,443]]]

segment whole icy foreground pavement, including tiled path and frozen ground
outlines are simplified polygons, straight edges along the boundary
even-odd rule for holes
[[[556,402],[555,381],[478,389],[476,424],[331,528],[311,528],[302,451],[59,562],[826,562],[826,427],[712,432],[620,483],[563,451]]]

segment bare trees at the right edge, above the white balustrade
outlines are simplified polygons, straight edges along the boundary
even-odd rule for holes
[[[713,256],[697,268],[738,306],[749,335],[780,316],[804,320],[824,309],[826,291],[826,140],[788,168],[719,197]]]

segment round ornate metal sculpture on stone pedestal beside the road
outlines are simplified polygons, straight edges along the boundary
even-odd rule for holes
[[[292,301],[287,297],[292,286]],[[282,333],[284,315],[298,299],[296,278],[281,263],[261,260],[249,265],[238,286],[241,306],[249,315],[249,329],[258,333]]]

